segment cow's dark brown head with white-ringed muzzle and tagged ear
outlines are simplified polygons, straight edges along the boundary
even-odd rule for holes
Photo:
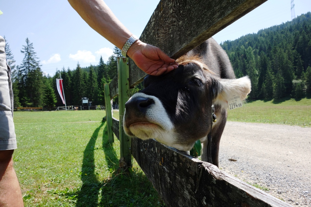
[[[220,79],[200,61],[181,64],[168,74],[146,76],[145,88],[125,104],[129,136],[188,151],[210,132],[212,104],[227,108],[234,93],[244,100],[250,92],[248,77]]]

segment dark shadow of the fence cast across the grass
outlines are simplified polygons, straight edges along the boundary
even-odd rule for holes
[[[102,123],[95,129],[83,153],[81,169],[82,187],[77,195],[77,207],[93,206],[163,206],[156,190],[142,171],[115,173],[118,169],[117,153],[109,144],[107,126],[104,128],[102,146],[112,178],[99,180],[95,173],[94,146]]]

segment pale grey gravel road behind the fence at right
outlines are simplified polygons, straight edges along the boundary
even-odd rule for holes
[[[227,122],[219,154],[226,173],[290,205],[311,206],[311,128]]]

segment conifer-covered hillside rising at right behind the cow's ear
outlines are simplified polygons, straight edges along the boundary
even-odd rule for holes
[[[237,78],[252,82],[249,99],[311,96],[311,13],[221,46]]]

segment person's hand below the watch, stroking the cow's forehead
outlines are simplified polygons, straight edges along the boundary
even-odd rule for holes
[[[150,75],[166,74],[176,68],[179,64],[167,56],[160,48],[137,40],[128,49],[127,55],[145,73]]]

